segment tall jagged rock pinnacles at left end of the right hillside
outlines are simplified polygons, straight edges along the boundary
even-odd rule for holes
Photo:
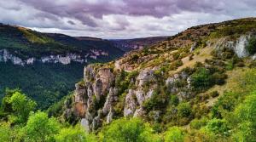
[[[96,130],[104,120],[112,121],[112,107],[118,100],[117,89],[111,88],[113,81],[113,73],[108,68],[98,71],[93,65],[84,68],[84,81],[76,84],[72,111],[87,131]],[[102,101],[105,102],[101,106]]]

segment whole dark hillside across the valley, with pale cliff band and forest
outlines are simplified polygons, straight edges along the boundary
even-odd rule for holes
[[[0,24],[0,98],[5,88],[21,88],[45,109],[73,90],[73,84],[83,77],[84,65],[123,54],[100,38]]]

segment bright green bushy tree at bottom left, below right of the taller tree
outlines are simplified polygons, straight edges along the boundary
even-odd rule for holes
[[[24,128],[26,141],[48,142],[54,140],[59,133],[60,124],[54,117],[49,118],[46,113],[38,111],[29,116]]]

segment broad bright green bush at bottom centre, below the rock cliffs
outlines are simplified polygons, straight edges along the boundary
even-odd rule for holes
[[[121,118],[113,121],[100,133],[102,141],[105,142],[146,142],[160,141],[160,138],[153,133],[148,123],[138,118]]]

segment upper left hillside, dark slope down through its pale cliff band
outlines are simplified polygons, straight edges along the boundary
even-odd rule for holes
[[[113,43],[93,37],[69,37],[41,33],[19,26],[0,24],[0,62],[15,65],[71,62],[90,63],[113,60],[124,54]]]

